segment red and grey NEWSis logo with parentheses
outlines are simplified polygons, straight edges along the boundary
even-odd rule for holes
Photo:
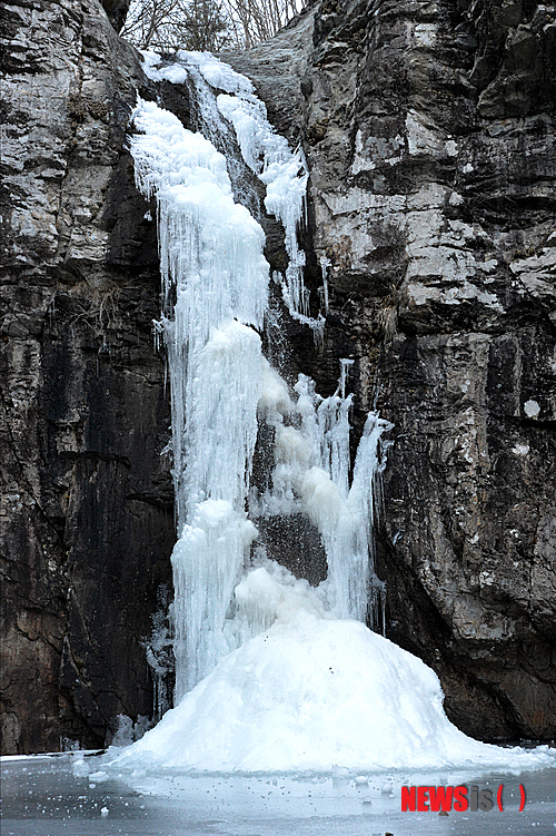
[[[496,793],[496,806],[503,807],[504,785]],[[493,789],[476,786],[459,787],[401,787],[401,813],[466,813],[483,810],[488,813],[495,805]],[[525,788],[519,784],[519,813],[525,807]]]

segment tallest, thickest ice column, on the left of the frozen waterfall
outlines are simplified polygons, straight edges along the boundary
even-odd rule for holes
[[[256,529],[245,500],[257,436],[268,265],[264,233],[231,195],[226,160],[172,114],[139,100],[131,153],[158,204],[179,540],[176,698],[227,651],[226,611]]]

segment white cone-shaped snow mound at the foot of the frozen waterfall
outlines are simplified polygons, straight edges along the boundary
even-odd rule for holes
[[[248,587],[251,587],[248,589]],[[353,620],[284,590],[260,568],[239,597],[276,621],[215,670],[115,761],[192,771],[329,773],[439,767],[535,768],[546,751],[477,742],[448,721],[437,676]]]

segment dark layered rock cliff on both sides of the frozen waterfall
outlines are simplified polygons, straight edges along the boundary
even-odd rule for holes
[[[103,6],[118,28],[126,2]],[[396,424],[387,636],[483,739],[548,739],[556,716],[555,17],[324,0],[226,57],[310,169],[330,307],[322,352],[290,328],[300,367],[328,394],[351,356],[357,426],[375,403]],[[96,0],[20,0],[0,27],[3,747],[101,746],[152,711],[173,543],[156,233],[125,141],[145,78]]]

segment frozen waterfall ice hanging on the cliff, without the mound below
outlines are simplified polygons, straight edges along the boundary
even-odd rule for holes
[[[290,257],[285,301],[301,322],[320,327],[304,313],[305,254],[297,228],[307,173],[300,154],[292,154],[270,128],[247,79],[238,81],[226,70],[215,77],[222,65],[215,59],[203,63],[195,53],[192,58],[189,71],[201,87],[199,99],[209,109],[209,124],[215,125],[215,114],[199,73],[235,87],[236,96],[220,94],[217,107],[232,122],[246,163],[267,184],[267,209],[284,223]],[[149,71],[157,72],[152,65]],[[176,67],[166,72],[181,78]],[[179,535],[172,554],[179,700],[238,641],[234,590],[257,535],[246,513],[257,414],[275,430],[275,466],[271,490],[257,499],[251,491],[252,510],[257,515],[277,510],[307,515],[328,560],[328,582],[321,590],[326,606],[340,618],[360,620],[369,602],[379,440],[388,424],[369,415],[349,488],[351,396],[346,396],[346,378],[353,361],[341,361],[338,389],[330,397],[320,397],[304,375],[295,392],[288,392],[262,357],[257,333],[269,281],[264,233],[234,201],[226,159],[208,139],[153,102],[139,100],[133,122],[137,185],[147,197],[156,197],[158,207],[158,330],[171,390]],[[277,392],[279,402],[274,401]],[[245,630],[240,633],[245,639]]]

